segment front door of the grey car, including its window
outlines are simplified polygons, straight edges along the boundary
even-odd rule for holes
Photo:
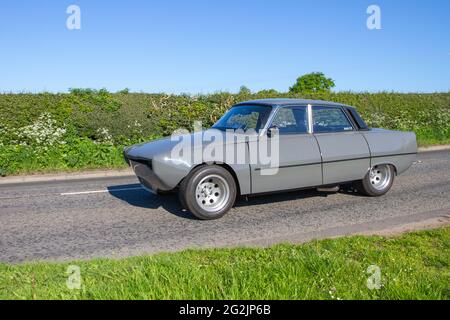
[[[319,146],[309,133],[309,117],[306,106],[280,107],[273,117],[271,127],[278,128],[278,171],[273,175],[263,173],[264,166],[252,164],[252,192],[263,193],[278,190],[317,186],[322,183]],[[255,152],[257,143],[250,143]]]

